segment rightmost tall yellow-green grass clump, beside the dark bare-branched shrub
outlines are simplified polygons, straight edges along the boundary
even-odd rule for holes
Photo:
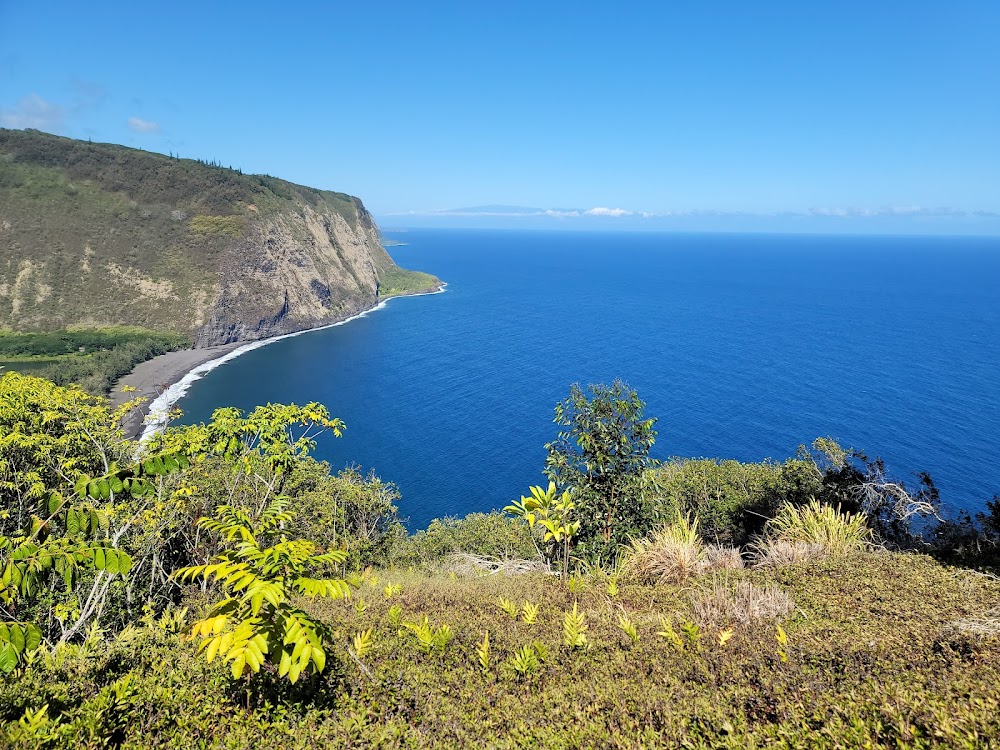
[[[785,503],[755,550],[759,563],[782,565],[868,549],[873,541],[865,514],[843,513],[813,498],[802,507]]]

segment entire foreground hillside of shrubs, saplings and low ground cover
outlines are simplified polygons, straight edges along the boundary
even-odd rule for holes
[[[829,439],[660,464],[616,382],[548,487],[407,534],[319,404],[134,407],[0,377],[2,746],[998,746],[996,499]]]

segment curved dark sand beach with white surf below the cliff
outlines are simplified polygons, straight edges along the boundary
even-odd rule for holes
[[[127,437],[138,438],[139,442],[143,442],[164,428],[170,410],[174,404],[184,397],[192,384],[201,380],[217,367],[236,359],[241,354],[259,349],[262,346],[267,346],[281,339],[342,326],[345,323],[350,323],[352,320],[363,318],[371,312],[381,310],[390,300],[397,299],[398,297],[423,297],[431,294],[441,294],[447,286],[446,282],[441,282],[441,285],[432,291],[395,294],[343,320],[314,328],[303,328],[301,331],[283,333],[279,336],[271,336],[256,341],[235,342],[206,347],[204,349],[181,349],[161,354],[158,357],[136,365],[132,372],[115,383],[115,387],[109,397],[111,404],[112,406],[120,406],[130,398],[135,398],[136,396],[142,396],[147,399],[147,401],[129,414],[122,423]],[[133,393],[122,393],[121,389],[123,386],[131,386],[136,391]]]

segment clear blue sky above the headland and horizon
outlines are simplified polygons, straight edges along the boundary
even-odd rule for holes
[[[0,124],[343,190],[383,224],[997,233],[1000,2],[0,0]]]

